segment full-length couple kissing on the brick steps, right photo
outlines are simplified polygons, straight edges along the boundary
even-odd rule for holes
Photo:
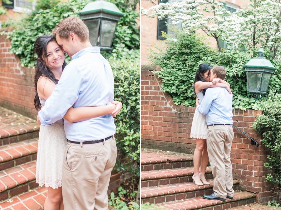
[[[190,132],[190,137],[196,138],[193,160],[195,173],[192,179],[196,185],[210,184],[205,179],[210,159],[214,193],[204,195],[203,198],[221,201],[234,196],[230,162],[231,142],[234,138],[233,95],[229,83],[224,81],[225,76],[226,71],[222,66],[212,68],[207,63],[199,65],[194,81],[196,110]]]

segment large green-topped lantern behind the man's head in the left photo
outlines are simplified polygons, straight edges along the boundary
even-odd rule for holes
[[[102,51],[111,51],[117,23],[124,13],[111,2],[98,0],[88,3],[77,14],[89,28],[91,45],[99,46]]]

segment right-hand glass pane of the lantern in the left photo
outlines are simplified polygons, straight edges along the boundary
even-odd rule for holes
[[[111,47],[116,25],[116,21],[102,20],[100,46]]]

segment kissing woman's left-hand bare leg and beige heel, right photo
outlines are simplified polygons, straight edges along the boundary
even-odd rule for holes
[[[200,183],[199,167],[202,159],[203,149],[206,145],[206,139],[196,139],[196,147],[193,155],[193,165],[194,165],[194,179],[196,182]],[[208,164],[208,163],[207,163]]]

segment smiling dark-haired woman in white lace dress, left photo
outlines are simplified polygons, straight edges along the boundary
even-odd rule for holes
[[[38,56],[35,62],[34,106],[37,111],[44,106],[58,83],[66,66],[65,56],[54,36],[44,34],[34,43],[34,52]],[[117,103],[117,102],[115,102]],[[118,102],[121,103],[121,102]],[[59,107],[58,107],[59,108]],[[64,116],[69,122],[81,122],[107,114],[117,114],[116,104],[109,102],[100,107],[70,107]],[[48,189],[44,209],[63,210],[62,201],[62,161],[67,138],[64,132],[63,119],[49,126],[40,126],[36,182]]]

